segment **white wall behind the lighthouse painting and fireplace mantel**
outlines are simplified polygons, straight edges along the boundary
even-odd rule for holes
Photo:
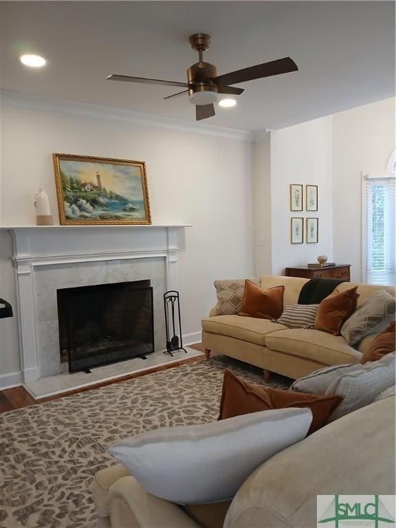
[[[110,114],[109,114],[110,113]],[[1,224],[34,224],[44,187],[57,217],[52,153],[146,162],[153,223],[192,223],[179,260],[183,333],[199,340],[216,278],[252,275],[250,146],[243,134],[205,133],[129,119],[129,113],[3,94]],[[248,213],[247,213],[248,212]],[[0,296],[15,300],[10,236],[0,234]],[[0,373],[19,369],[17,320],[0,321]],[[191,341],[190,341],[191,342]]]

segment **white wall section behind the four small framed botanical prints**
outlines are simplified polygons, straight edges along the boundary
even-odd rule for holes
[[[271,133],[272,272],[316,262],[333,255],[333,118],[332,116],[289,126]],[[318,212],[292,212],[289,185],[318,185]],[[318,243],[290,243],[291,217],[318,217]],[[305,220],[304,220],[305,240]]]

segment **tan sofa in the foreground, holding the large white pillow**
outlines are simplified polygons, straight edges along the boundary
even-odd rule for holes
[[[230,506],[201,505],[186,514],[145,492],[120,464],[98,472],[93,491],[101,528],[314,528],[317,495],[395,494],[395,398],[351,412],[279,452],[243,483]]]

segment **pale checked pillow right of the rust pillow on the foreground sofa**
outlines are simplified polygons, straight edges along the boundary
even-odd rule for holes
[[[362,367],[362,370],[344,374],[327,389],[326,396],[344,398],[332,412],[329,422],[371,404],[386,388],[395,385],[395,354],[384,355],[382,360]]]

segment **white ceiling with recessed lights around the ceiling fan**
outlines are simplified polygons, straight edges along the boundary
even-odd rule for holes
[[[3,1],[1,87],[193,121],[177,89],[109,74],[184,82],[188,36],[212,35],[218,74],[291,56],[299,71],[239,85],[206,124],[277,129],[395,94],[393,1]],[[19,63],[42,54],[45,69]]]

